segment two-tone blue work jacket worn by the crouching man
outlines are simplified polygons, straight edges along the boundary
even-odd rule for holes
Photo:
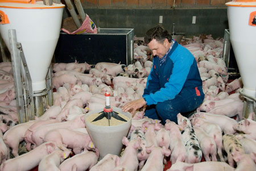
[[[154,57],[142,97],[147,105],[156,105],[158,102],[174,99],[184,88],[195,89],[200,86],[202,80],[195,57],[175,41],[162,66],[158,57]]]

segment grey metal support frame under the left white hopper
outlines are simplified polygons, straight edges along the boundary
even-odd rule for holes
[[[8,34],[19,122],[25,123],[28,120],[34,120],[35,115],[42,115],[47,106],[52,106],[51,66],[46,78],[47,89],[38,93],[33,92],[30,72],[22,44],[17,42],[16,30],[9,30]],[[44,95],[46,95],[46,103],[43,105]]]

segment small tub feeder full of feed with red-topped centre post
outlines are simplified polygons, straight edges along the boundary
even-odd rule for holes
[[[130,112],[110,106],[109,93],[105,93],[105,97],[104,110],[90,111],[85,117],[86,130],[100,153],[99,160],[109,153],[120,155],[122,138],[129,132],[132,117]]]

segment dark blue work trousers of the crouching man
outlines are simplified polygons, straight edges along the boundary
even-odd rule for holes
[[[181,113],[187,116],[189,112],[196,110],[204,100],[202,87],[184,88],[172,100],[159,102],[156,105],[147,106],[145,116],[152,119],[162,120],[162,124],[166,123],[166,119],[177,123],[177,114]]]

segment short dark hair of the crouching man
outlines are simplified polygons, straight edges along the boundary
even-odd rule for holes
[[[159,43],[163,43],[164,39],[168,39],[168,41],[171,42],[172,36],[165,28],[158,25],[153,28],[150,28],[150,30],[146,32],[146,36],[144,37],[144,42],[148,44],[153,39],[155,39],[156,41],[159,41]]]

